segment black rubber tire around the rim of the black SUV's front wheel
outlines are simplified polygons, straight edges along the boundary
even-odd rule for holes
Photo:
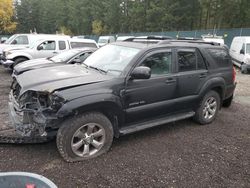
[[[103,141],[102,146],[100,147],[100,150],[98,150],[97,153],[90,155],[91,152],[89,152],[89,155],[80,157],[73,151],[72,142],[74,142],[73,140],[76,138],[75,134],[78,133],[79,130],[81,134],[83,134],[81,129],[85,129],[85,127],[83,126],[89,125],[89,124],[98,124],[98,126],[100,125],[103,128],[102,130],[104,130],[105,139]],[[84,135],[86,136],[86,134],[87,134],[87,130],[84,133]],[[63,122],[63,125],[58,130],[56,142],[57,142],[58,151],[63,157],[63,159],[67,162],[76,162],[76,161],[91,159],[103,153],[106,153],[112,145],[113,137],[114,137],[113,126],[111,122],[109,121],[109,119],[102,113],[89,112],[89,113],[75,116]],[[84,144],[81,147],[85,151],[85,145],[87,143],[85,143],[86,141],[83,141],[83,139],[84,138],[81,138],[80,141],[82,141],[82,143],[84,142]],[[92,140],[94,140],[94,138],[92,138]],[[95,149],[95,147],[93,147],[91,143],[88,143],[88,145],[89,145],[88,146],[89,151],[91,147],[92,149],[93,148]],[[79,148],[79,150],[80,149],[81,148]]]

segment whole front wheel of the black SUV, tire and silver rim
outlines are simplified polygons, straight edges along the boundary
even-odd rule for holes
[[[97,157],[109,150],[113,127],[99,112],[86,113],[66,120],[57,133],[57,148],[67,162]]]

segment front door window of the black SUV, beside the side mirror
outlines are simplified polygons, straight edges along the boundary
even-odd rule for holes
[[[168,74],[171,72],[171,52],[162,52],[147,57],[141,64],[151,69],[152,76]]]

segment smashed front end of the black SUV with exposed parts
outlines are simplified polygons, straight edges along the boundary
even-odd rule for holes
[[[64,99],[48,91],[26,91],[20,95],[21,86],[14,81],[9,94],[9,115],[12,126],[22,137],[54,136],[60,118],[57,112]]]

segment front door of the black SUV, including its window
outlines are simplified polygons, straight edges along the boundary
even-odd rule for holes
[[[138,66],[151,68],[151,78],[128,80],[125,89],[127,123],[150,119],[174,110],[176,76],[171,49],[159,50],[145,56]]]

